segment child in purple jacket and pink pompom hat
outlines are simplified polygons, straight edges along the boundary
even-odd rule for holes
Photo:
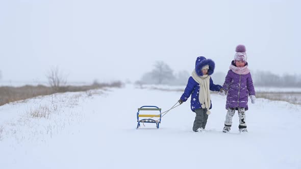
[[[228,110],[224,121],[223,132],[229,132],[232,126],[232,118],[235,110],[238,110],[239,131],[247,132],[245,123],[245,111],[248,110],[248,96],[255,103],[255,89],[253,86],[252,76],[248,69],[247,55],[244,45],[236,47],[234,60],[230,65],[223,88],[219,94],[227,94],[225,108]]]

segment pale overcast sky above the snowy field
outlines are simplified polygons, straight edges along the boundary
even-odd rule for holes
[[[301,74],[299,1],[0,0],[2,80],[135,81],[156,61],[226,73],[238,44],[250,70]]]

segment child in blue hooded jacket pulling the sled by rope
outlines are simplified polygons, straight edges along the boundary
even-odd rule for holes
[[[205,57],[197,57],[195,61],[195,69],[192,71],[188,79],[187,86],[182,94],[179,103],[187,101],[191,95],[191,110],[195,112],[195,120],[192,130],[195,132],[205,129],[207,124],[209,109],[212,108],[210,99],[211,91],[220,91],[220,85],[214,85],[210,75],[213,74],[215,63]]]

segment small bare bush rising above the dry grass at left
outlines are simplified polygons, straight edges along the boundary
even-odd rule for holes
[[[58,67],[54,67],[49,70],[48,74],[46,75],[48,79],[49,85],[55,90],[59,91],[61,87],[65,86],[67,83],[67,78],[63,75]]]

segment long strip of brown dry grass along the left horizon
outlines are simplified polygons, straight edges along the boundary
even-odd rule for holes
[[[36,96],[51,95],[54,93],[63,92],[80,92],[89,91],[92,89],[101,89],[105,87],[117,87],[120,88],[122,83],[120,81],[112,83],[93,83],[90,86],[64,86],[59,88],[51,88],[43,85],[38,86],[22,86],[22,87],[0,87],[0,106],[6,103],[23,101],[25,99],[33,98]]]

